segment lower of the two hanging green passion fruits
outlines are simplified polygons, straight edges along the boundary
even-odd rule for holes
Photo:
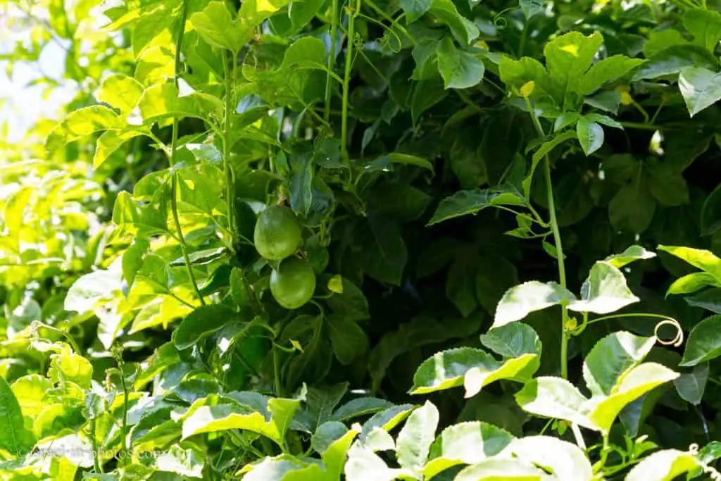
[[[310,262],[288,257],[270,273],[270,292],[286,309],[298,309],[315,291],[315,273]]]

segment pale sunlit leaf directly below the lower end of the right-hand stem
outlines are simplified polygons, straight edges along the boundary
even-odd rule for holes
[[[526,412],[544,418],[568,420],[598,431],[596,424],[585,415],[587,401],[569,381],[551,376],[538,377],[516,393],[516,402]]]

